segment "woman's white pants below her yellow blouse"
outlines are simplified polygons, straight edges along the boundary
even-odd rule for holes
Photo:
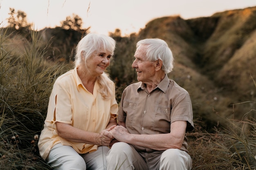
[[[98,150],[79,154],[71,146],[56,144],[50,150],[46,162],[57,170],[106,170],[107,146],[99,146]]]

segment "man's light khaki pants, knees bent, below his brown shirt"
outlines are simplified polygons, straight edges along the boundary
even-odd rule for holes
[[[124,142],[115,143],[107,155],[108,170],[190,170],[192,159],[180,149],[138,153]]]

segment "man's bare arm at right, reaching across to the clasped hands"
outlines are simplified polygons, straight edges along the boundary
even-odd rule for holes
[[[124,122],[120,122],[121,125]],[[171,123],[171,132],[166,134],[139,135],[130,134],[124,126],[116,126],[110,131],[115,139],[120,142],[134,144],[154,150],[166,150],[170,148],[180,149],[186,133],[186,121]]]

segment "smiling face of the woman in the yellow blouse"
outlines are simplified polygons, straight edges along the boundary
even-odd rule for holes
[[[87,59],[87,67],[92,75],[99,76],[103,74],[106,68],[110,65],[112,54],[100,49],[99,52],[94,52],[92,57]]]

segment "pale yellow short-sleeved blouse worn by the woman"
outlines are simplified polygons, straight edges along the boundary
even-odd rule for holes
[[[118,113],[115,84],[109,80],[109,86],[112,89],[112,96],[110,99],[103,100],[98,92],[98,82],[95,82],[93,94],[91,94],[83,86],[76,68],[57,78],[49,98],[44,128],[38,141],[39,152],[43,159],[46,159],[52,146],[58,143],[72,146],[78,153],[97,150],[97,145],[70,142],[59,137],[55,123],[72,124],[78,129],[94,133],[106,129],[110,113],[114,115]]]

